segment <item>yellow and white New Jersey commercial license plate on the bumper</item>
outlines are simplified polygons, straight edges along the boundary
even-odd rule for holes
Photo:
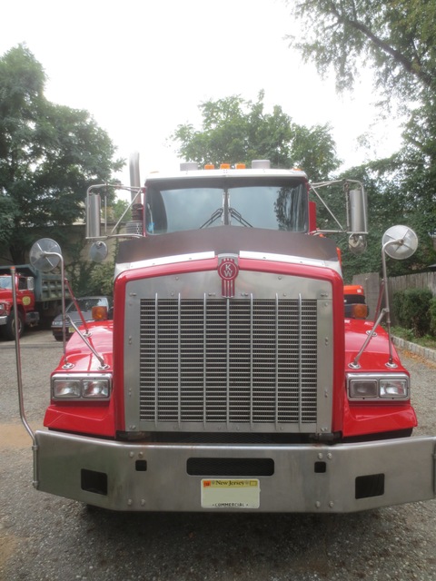
[[[261,484],[255,478],[202,480],[202,508],[259,508]]]

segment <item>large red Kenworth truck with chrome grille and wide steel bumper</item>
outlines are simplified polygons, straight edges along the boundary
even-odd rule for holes
[[[309,201],[326,184],[261,160],[187,163],[142,186],[133,159],[124,234],[101,231],[104,189],[87,193],[95,259],[105,238],[125,239],[114,320],[64,347],[45,429],[32,432],[35,487],[132,511],[333,513],[433,498],[436,438],[411,437],[387,295],[374,321],[362,300],[344,316],[336,244]],[[342,186],[337,231],[360,251],[365,194]],[[386,253],[414,248],[409,229],[387,231],[384,273]],[[54,254],[43,244],[33,259]]]

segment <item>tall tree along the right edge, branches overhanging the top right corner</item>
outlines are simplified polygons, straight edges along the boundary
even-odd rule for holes
[[[382,113],[396,103],[407,119],[403,143],[390,160],[369,164],[382,183],[375,207],[390,206],[394,191],[401,222],[420,235],[413,266],[435,260],[428,233],[436,230],[436,0],[299,0],[288,3],[298,34],[288,38],[303,60],[325,76],[334,72],[339,91],[351,90],[363,65],[372,67],[384,97]],[[372,214],[373,214],[372,207]],[[391,214],[386,216],[392,222]],[[410,262],[402,263],[401,270]]]

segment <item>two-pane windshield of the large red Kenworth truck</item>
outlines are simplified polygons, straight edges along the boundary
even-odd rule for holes
[[[163,234],[214,226],[307,231],[304,182],[230,178],[151,182],[146,193],[146,231]]]

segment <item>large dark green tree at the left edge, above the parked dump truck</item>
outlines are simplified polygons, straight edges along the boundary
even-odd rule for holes
[[[84,193],[119,171],[114,144],[89,113],[50,103],[45,72],[24,46],[0,58],[0,247],[25,261],[31,227],[71,224]]]

